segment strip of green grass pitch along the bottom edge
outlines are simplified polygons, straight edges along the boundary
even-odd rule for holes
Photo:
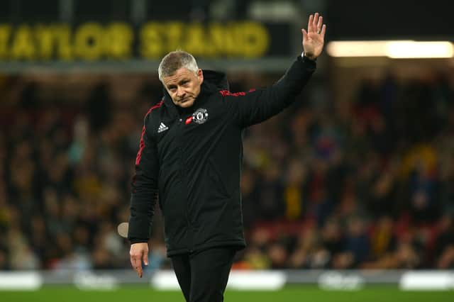
[[[0,291],[8,302],[184,302],[179,291],[155,291],[147,286],[122,286],[113,291],[81,291],[72,286],[45,286],[38,291]],[[369,286],[360,291],[324,291],[316,286],[286,286],[280,291],[228,290],[225,301],[260,302],[448,302],[453,291],[400,291],[396,286]]]

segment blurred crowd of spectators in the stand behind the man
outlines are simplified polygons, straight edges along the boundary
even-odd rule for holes
[[[260,79],[233,77],[232,91]],[[269,79],[270,81],[267,81]],[[157,79],[129,103],[99,82],[68,103],[1,82],[0,270],[129,268],[130,183]],[[244,135],[248,247],[235,269],[453,269],[454,84],[365,79],[336,102],[314,79]],[[46,99],[47,98],[47,99]],[[149,269],[167,267],[157,211]]]

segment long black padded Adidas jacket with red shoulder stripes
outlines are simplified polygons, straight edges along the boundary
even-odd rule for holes
[[[168,256],[245,247],[243,129],[292,104],[315,68],[314,61],[298,57],[269,88],[238,93],[228,91],[225,74],[204,71],[199,96],[181,113],[165,93],[145,116],[132,184],[131,243],[148,241],[159,199]]]

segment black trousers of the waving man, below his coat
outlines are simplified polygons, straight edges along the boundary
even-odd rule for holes
[[[213,247],[172,256],[179,287],[187,302],[221,302],[236,249]]]

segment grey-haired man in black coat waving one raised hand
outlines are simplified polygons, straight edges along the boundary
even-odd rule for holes
[[[142,276],[155,202],[167,256],[187,301],[223,301],[237,250],[245,247],[241,213],[242,131],[292,104],[316,68],[326,26],[309,17],[304,52],[270,88],[231,93],[225,74],[202,72],[192,55],[167,54],[158,73],[163,100],[145,116],[135,160],[128,239]]]

